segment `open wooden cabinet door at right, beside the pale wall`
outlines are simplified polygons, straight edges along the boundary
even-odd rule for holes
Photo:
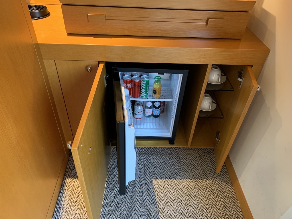
[[[241,88],[235,91],[236,93],[234,95],[234,100],[230,105],[228,116],[224,122],[222,130],[220,130],[220,141],[217,147],[215,147],[215,164],[217,173],[220,172],[225,162],[246,112],[258,89],[258,84],[251,66],[244,67],[243,77],[244,80]]]

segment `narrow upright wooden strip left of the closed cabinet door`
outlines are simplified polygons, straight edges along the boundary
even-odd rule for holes
[[[63,98],[63,93],[62,93],[62,89],[61,89],[61,85],[59,81],[57,68],[55,65],[55,60],[44,60],[44,65],[46,67],[46,72],[48,74],[48,80],[50,82],[58,116],[60,118],[61,127],[65,135],[65,142],[63,143],[64,145],[66,145],[68,141],[73,140],[73,135],[72,135],[69,118],[68,118],[64,98]]]

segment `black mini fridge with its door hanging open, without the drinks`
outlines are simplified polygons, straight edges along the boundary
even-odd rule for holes
[[[125,194],[128,182],[135,180],[139,164],[135,139],[166,139],[175,143],[175,135],[183,101],[189,70],[180,64],[124,63],[108,62],[107,72],[112,81],[114,93],[114,112],[116,127],[116,145],[119,177],[119,193]],[[124,74],[149,76],[147,97],[134,98],[129,89],[124,87]],[[143,75],[142,74],[142,75]],[[161,96],[152,96],[154,77],[161,77]],[[159,78],[158,77],[158,78]],[[136,119],[133,113],[135,102],[142,103],[142,118]],[[164,103],[164,112],[159,117],[145,117],[145,103]],[[161,108],[162,109],[162,108]]]

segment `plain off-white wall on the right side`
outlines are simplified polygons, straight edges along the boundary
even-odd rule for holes
[[[258,0],[248,27],[271,52],[229,153],[255,219],[292,218],[292,1]]]

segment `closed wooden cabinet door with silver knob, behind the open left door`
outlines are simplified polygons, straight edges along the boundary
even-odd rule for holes
[[[98,69],[98,62],[56,60],[55,63],[73,138],[75,138],[95,73]],[[87,66],[91,66],[91,72],[87,71]]]

